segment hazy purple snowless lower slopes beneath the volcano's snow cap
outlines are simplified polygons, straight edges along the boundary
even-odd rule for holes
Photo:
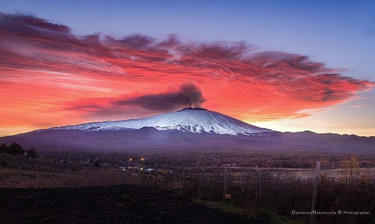
[[[16,142],[24,149],[38,151],[102,151],[132,152],[140,150],[249,150],[282,152],[315,152],[321,143],[321,152],[372,153],[375,137],[305,132],[271,132],[258,135],[219,135],[184,131],[157,130],[154,127],[123,130],[83,131],[77,129],[45,129],[14,136],[0,137],[0,143]]]

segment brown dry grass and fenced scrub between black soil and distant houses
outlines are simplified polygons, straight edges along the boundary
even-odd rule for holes
[[[308,215],[294,215],[295,211],[309,211],[312,200],[311,169],[261,169],[261,206],[256,210],[256,172],[254,168],[204,167],[176,168],[173,173],[146,173],[120,169],[89,167],[80,171],[19,170],[2,167],[1,187],[60,188],[93,187],[118,184],[136,184],[148,188],[169,190],[176,195],[193,198],[198,203],[213,207],[230,204],[235,212],[258,214],[273,223],[304,223]],[[333,174],[332,176],[329,174]],[[340,170],[322,172],[319,178],[317,210],[320,211],[374,211],[374,169],[360,169],[346,177]],[[298,175],[303,175],[298,176]],[[323,200],[324,199],[324,200]],[[214,204],[209,202],[216,202]],[[334,205],[334,206],[333,206]],[[375,220],[374,214],[355,216],[319,215],[320,222],[368,223]]]

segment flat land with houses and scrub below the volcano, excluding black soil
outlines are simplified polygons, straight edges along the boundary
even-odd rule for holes
[[[191,150],[41,152],[38,159],[2,155],[0,187],[40,189],[135,184],[168,190],[199,204],[267,218],[273,223],[305,223],[309,215],[292,215],[292,211],[311,209],[315,172],[311,167],[316,160],[322,161],[317,211],[371,212],[357,216],[317,215],[316,219],[322,223],[373,222],[375,168],[371,167],[374,162],[371,154]],[[98,167],[94,162],[99,163]],[[145,172],[146,168],[153,171]]]

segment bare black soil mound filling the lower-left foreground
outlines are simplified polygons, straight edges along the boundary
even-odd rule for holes
[[[0,223],[268,223],[137,185],[2,188]]]

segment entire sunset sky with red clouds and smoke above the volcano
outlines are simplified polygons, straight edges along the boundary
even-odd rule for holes
[[[375,135],[375,1],[87,2],[0,0],[0,136],[189,103]]]

